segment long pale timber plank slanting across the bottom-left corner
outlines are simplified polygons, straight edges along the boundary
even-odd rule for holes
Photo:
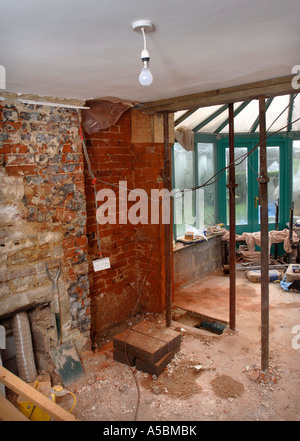
[[[28,399],[28,401],[32,402],[40,409],[44,410],[55,420],[76,421],[76,418],[70,412],[67,412],[65,409],[58,406],[58,404],[49,400],[49,398],[45,397],[3,366],[0,366],[0,382],[18,395]]]

